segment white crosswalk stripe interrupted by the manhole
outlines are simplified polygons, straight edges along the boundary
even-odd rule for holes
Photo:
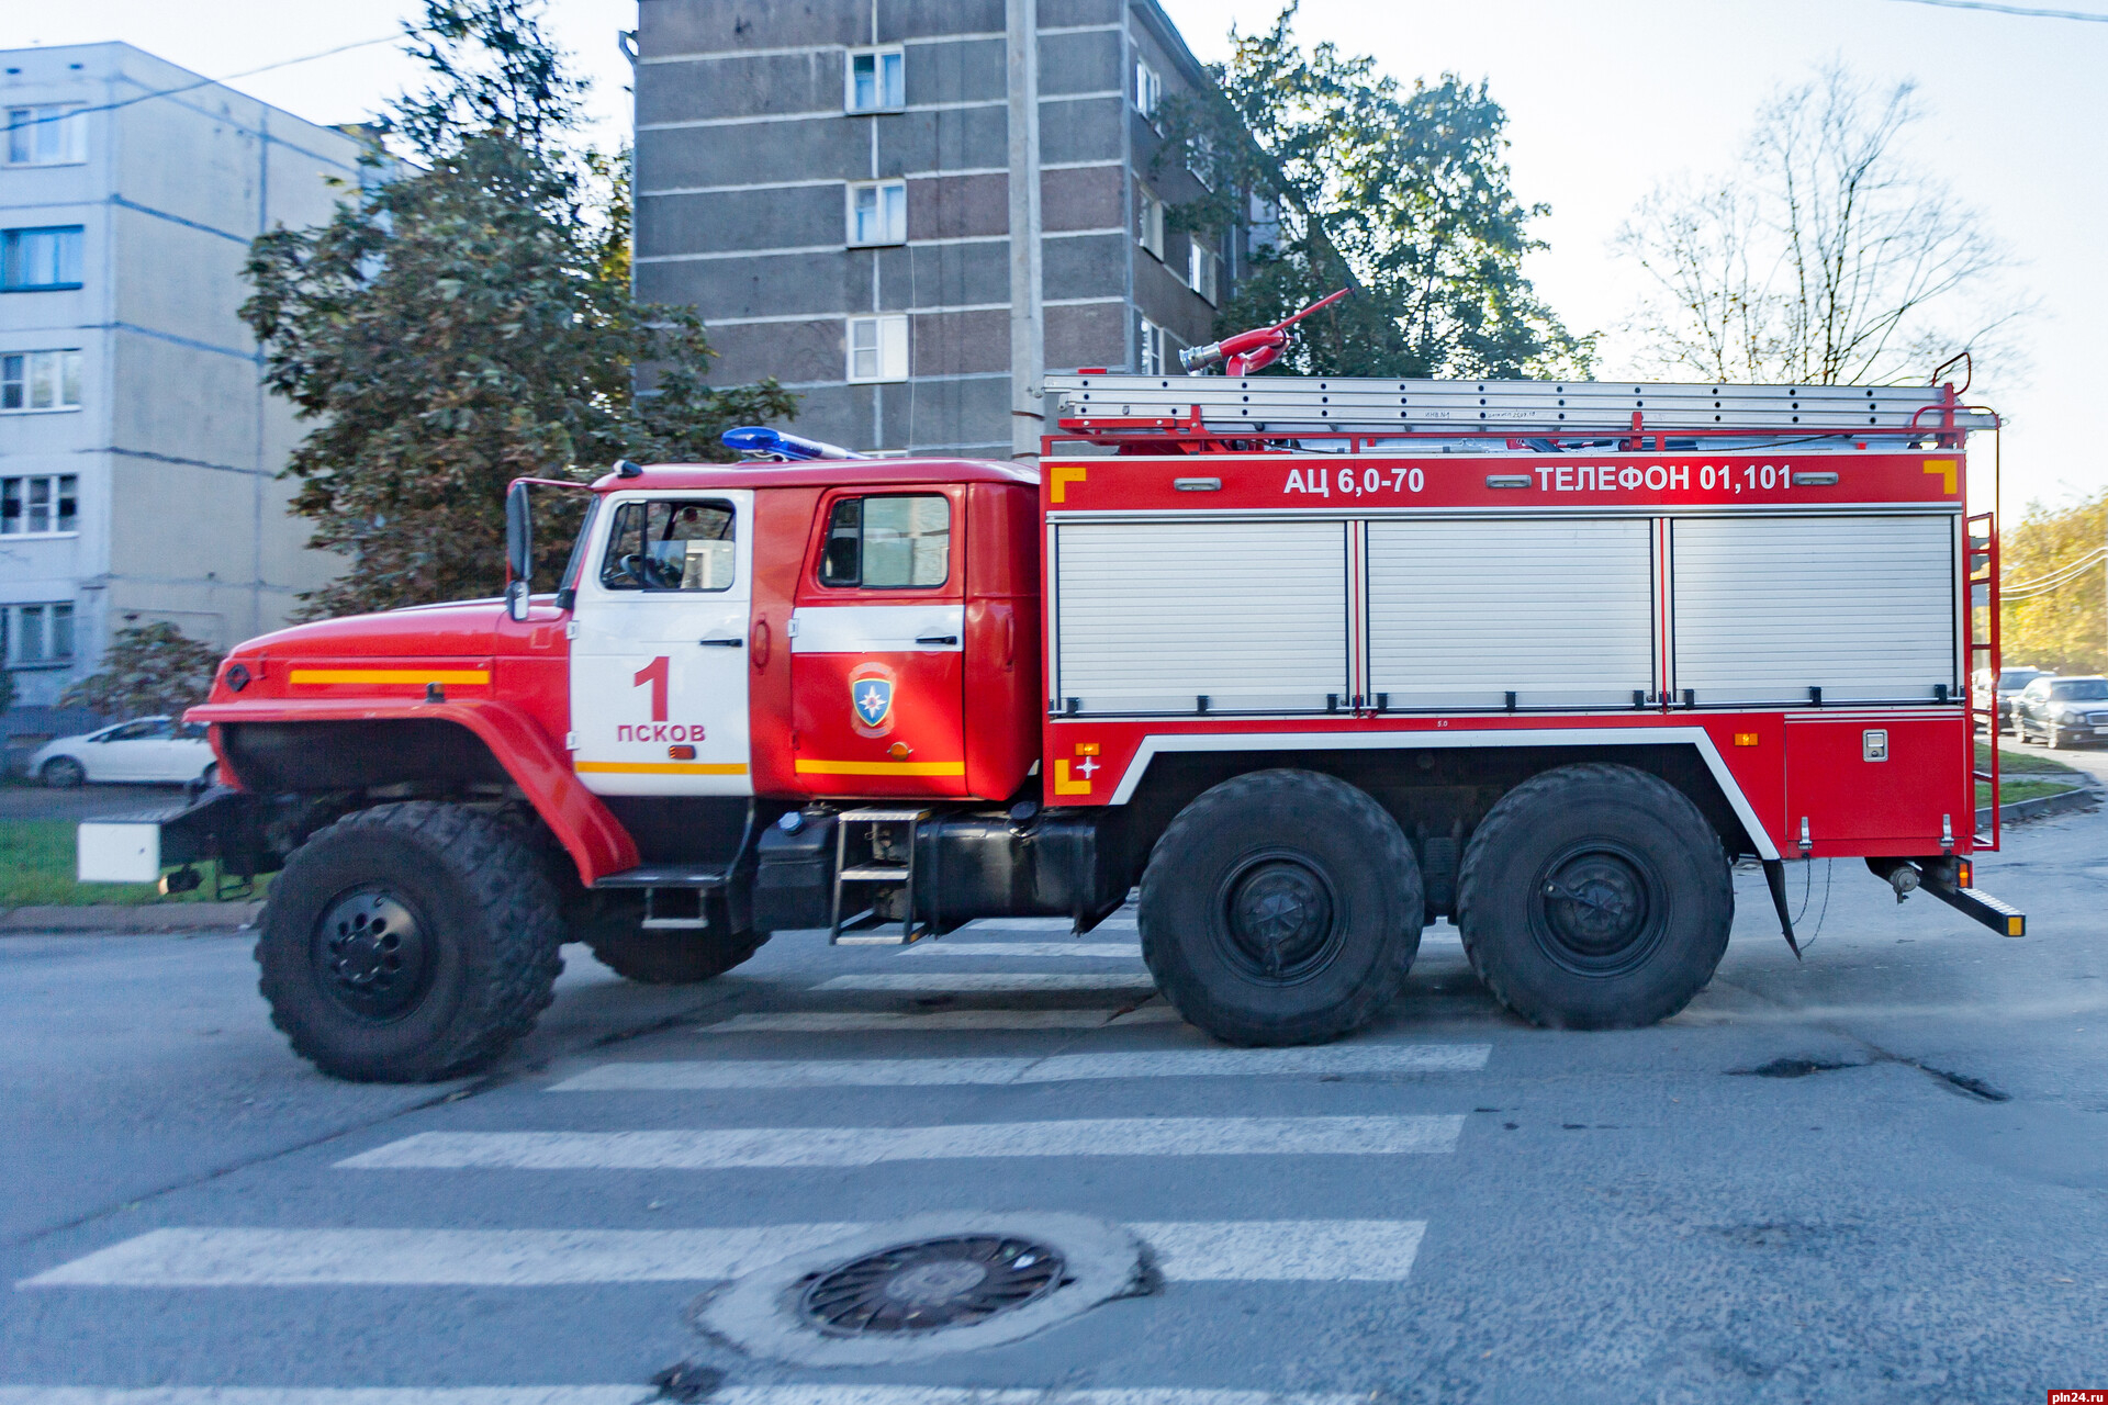
[[[25,1279],[51,1287],[559,1287],[708,1283],[824,1249],[862,1224],[721,1230],[152,1230]],[[1134,1224],[1172,1283],[1398,1283],[1421,1220]],[[4,1401],[0,1401],[4,1405]]]

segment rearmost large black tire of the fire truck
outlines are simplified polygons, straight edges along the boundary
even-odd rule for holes
[[[1471,969],[1554,1028],[1674,1015],[1712,979],[1733,921],[1720,836],[1686,794],[1632,767],[1560,767],[1516,786],[1457,876]]]

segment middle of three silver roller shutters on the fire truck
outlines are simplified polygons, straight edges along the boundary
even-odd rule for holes
[[[1646,518],[1370,522],[1387,708],[1632,708],[1655,689]]]

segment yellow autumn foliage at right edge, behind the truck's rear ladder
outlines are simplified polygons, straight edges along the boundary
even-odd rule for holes
[[[2000,577],[2036,581],[2076,565],[2108,543],[2108,491],[2070,508],[2028,506],[2028,516],[2000,533]],[[2060,674],[2108,672],[2108,583],[2104,567],[2026,600],[2005,600],[2000,645],[2009,664],[2032,664]]]

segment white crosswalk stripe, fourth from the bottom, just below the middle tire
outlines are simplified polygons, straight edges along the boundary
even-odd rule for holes
[[[552,1093],[740,1087],[942,1087],[1075,1083],[1081,1079],[1208,1079],[1294,1074],[1476,1072],[1492,1045],[1320,1045],[1301,1049],[1138,1049],[980,1060],[683,1060],[601,1064]]]

